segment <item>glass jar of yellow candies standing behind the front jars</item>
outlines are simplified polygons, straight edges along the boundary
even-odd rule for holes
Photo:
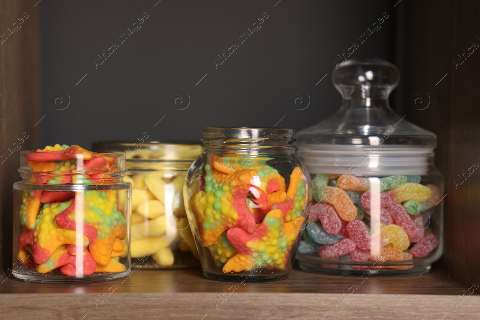
[[[148,138],[148,136],[147,136]],[[132,184],[132,262],[144,269],[198,266],[198,253],[183,204],[185,175],[201,154],[195,142],[103,142],[94,150],[126,153]]]

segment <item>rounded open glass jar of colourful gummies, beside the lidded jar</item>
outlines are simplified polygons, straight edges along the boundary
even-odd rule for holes
[[[311,197],[293,136],[292,129],[204,129],[184,197],[207,277],[244,282],[290,273]]]

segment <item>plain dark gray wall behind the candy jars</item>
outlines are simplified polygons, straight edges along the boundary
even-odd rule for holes
[[[398,8],[391,1],[157,1],[38,3],[42,146],[89,148],[144,132],[149,139],[196,140],[205,126],[301,130],[340,106],[332,69],[353,42],[360,45],[354,58],[395,62]],[[144,12],[141,28],[121,43],[117,37]],[[240,43],[237,36],[264,12],[261,28]],[[381,29],[360,43],[357,36],[384,12]],[[96,66],[114,42],[119,47]],[[216,69],[218,54],[234,42],[239,48]],[[175,105],[177,90],[183,95]],[[185,93],[190,104],[179,110],[188,103]]]

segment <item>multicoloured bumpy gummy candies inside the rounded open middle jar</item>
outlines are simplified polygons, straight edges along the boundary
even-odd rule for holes
[[[287,267],[305,220],[308,186],[296,167],[287,188],[268,160],[207,154],[202,189],[190,204],[200,246],[224,273]],[[301,249],[310,252],[306,246]]]

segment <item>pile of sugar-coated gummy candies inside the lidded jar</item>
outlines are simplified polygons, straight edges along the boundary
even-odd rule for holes
[[[314,201],[309,208],[310,224],[303,234],[300,254],[312,255],[313,249],[318,248],[313,255],[324,259],[404,261],[424,257],[438,246],[438,238],[426,226],[427,213],[423,212],[441,200],[439,188],[420,184],[420,176],[375,177],[378,179],[375,183],[371,179],[326,174],[313,178]],[[372,190],[373,185],[377,190]],[[346,208],[351,207],[356,209],[353,218],[353,214],[345,214]],[[373,221],[376,225],[370,230]],[[365,265],[352,267],[361,269]]]

